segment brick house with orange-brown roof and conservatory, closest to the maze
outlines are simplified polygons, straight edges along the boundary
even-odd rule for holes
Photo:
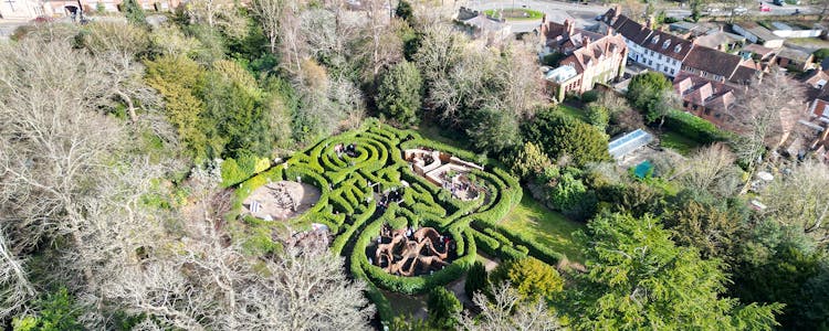
[[[621,36],[577,29],[570,19],[564,23],[542,19],[544,54],[557,52],[559,66],[545,74],[547,89],[558,102],[568,93],[583,94],[596,83],[608,83],[625,74],[628,47]]]

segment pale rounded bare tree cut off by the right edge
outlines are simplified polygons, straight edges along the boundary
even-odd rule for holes
[[[829,169],[815,160],[791,168],[775,179],[763,194],[765,213],[780,223],[797,226],[819,244],[829,243]]]

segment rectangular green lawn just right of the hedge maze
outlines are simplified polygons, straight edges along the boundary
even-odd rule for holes
[[[585,263],[584,247],[573,241],[573,233],[584,229],[585,225],[548,210],[535,201],[526,189],[521,204],[501,220],[501,225],[529,235],[537,243],[564,253],[569,260]]]

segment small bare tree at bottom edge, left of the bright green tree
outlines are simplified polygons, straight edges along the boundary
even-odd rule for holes
[[[472,301],[481,309],[473,319],[468,313],[458,318],[459,330],[559,330],[556,316],[547,309],[544,300],[523,301],[508,282],[495,286],[493,300],[475,293]]]

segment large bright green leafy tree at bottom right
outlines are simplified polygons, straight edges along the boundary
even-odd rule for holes
[[[576,329],[772,330],[780,305],[739,306],[723,298],[717,259],[676,246],[651,216],[605,214],[584,237],[588,273],[569,303]]]

